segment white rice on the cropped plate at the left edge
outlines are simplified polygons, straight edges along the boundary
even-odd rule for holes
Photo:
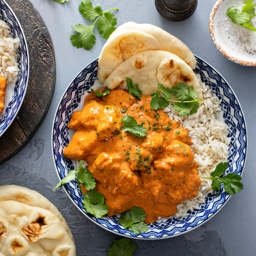
[[[20,46],[19,38],[12,38],[10,27],[0,20],[0,75],[7,83],[15,82],[18,78],[19,67],[17,62],[17,49]]]

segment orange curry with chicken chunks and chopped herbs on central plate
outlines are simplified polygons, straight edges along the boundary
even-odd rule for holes
[[[162,110],[152,110],[150,102],[150,95],[139,100],[122,89],[103,97],[93,93],[69,122],[76,131],[63,154],[88,162],[95,189],[105,196],[108,216],[136,206],[145,211],[145,222],[153,223],[197,196],[200,177],[188,131]],[[143,124],[147,135],[138,138],[122,131],[124,115]]]

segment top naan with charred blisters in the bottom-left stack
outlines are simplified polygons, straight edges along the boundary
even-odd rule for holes
[[[17,201],[0,203],[0,252],[5,256],[75,256],[75,244],[49,210]]]

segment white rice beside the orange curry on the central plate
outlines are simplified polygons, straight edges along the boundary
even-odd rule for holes
[[[214,171],[217,164],[228,161],[229,144],[231,138],[227,137],[228,126],[222,121],[220,116],[220,100],[214,95],[210,87],[198,80],[203,91],[203,104],[200,105],[197,113],[182,117],[178,111],[172,108],[170,104],[164,108],[164,112],[173,120],[179,121],[183,128],[188,129],[188,135],[191,138],[191,151],[194,153],[197,161],[197,171],[201,178],[201,185],[197,197],[185,200],[177,206],[177,213],[171,218],[179,218],[189,215],[188,210],[193,212],[200,209],[200,203],[205,203],[208,194],[212,194],[210,173]]]

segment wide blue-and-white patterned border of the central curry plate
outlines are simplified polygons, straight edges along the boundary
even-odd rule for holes
[[[200,74],[203,82],[210,85],[212,92],[220,98],[225,122],[229,126],[231,146],[229,151],[228,172],[235,172],[241,175],[247,152],[246,123],[242,109],[236,95],[234,95],[232,89],[223,77],[202,59],[197,56],[196,58],[197,67],[195,72]],[[70,139],[68,138],[70,137],[70,131],[67,128],[67,125],[72,113],[75,110],[79,110],[78,107],[80,107],[79,102],[82,100],[82,95],[90,89],[97,79],[97,70],[97,59],[82,69],[63,94],[56,110],[56,115],[53,121],[52,150],[59,179],[62,179],[70,170],[74,169],[72,161],[66,160],[62,154],[63,148],[68,145]],[[217,196],[217,194],[208,196],[206,202],[200,205],[200,209],[195,210],[189,216],[181,219],[164,219],[164,221],[149,224],[147,233],[136,235],[120,226],[117,217],[102,217],[101,219],[96,219],[86,213],[82,206],[82,194],[75,182],[69,182],[64,186],[64,189],[75,206],[90,220],[113,233],[138,239],[162,239],[177,236],[192,230],[217,213],[230,198],[230,195],[226,194],[222,187],[219,196]]]

